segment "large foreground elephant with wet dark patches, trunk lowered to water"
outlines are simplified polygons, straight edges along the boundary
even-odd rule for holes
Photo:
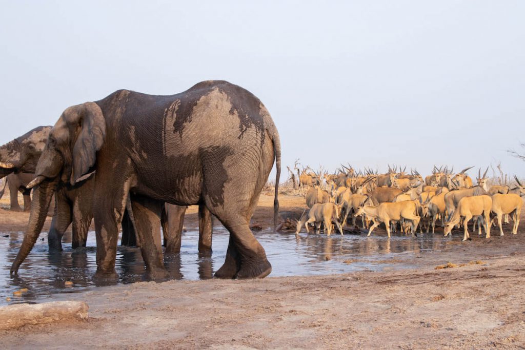
[[[205,206],[229,231],[217,278],[264,278],[271,272],[248,222],[276,162],[277,221],[280,141],[262,102],[227,81],[203,81],[170,96],[118,90],[67,108],[49,133],[38,161],[16,274],[44,224],[59,182],[75,184],[95,171],[97,238],[94,279],[116,279],[118,222],[131,201],[145,277],[164,278],[160,242],[164,203]],[[118,169],[118,171],[116,171]]]

